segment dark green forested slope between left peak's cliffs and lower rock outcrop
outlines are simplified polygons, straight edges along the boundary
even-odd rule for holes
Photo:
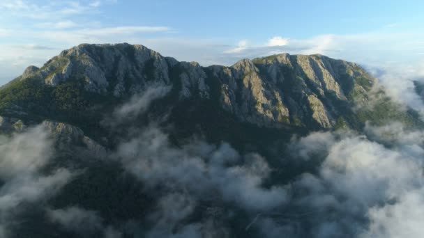
[[[93,132],[114,97],[89,93],[82,81],[49,86],[40,79],[15,80],[0,90],[0,115],[40,122],[49,118]]]

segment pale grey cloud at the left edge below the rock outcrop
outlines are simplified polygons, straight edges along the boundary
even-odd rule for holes
[[[0,136],[0,237],[13,237],[16,216],[25,212],[22,205],[43,205],[72,179],[66,168],[41,173],[52,158],[52,146],[43,126]]]

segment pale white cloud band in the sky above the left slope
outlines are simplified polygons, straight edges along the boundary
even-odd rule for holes
[[[81,43],[118,43],[128,42],[144,33],[167,33],[167,26],[117,26],[96,28],[75,28],[74,22],[43,22],[38,24],[43,29],[29,31],[0,30],[0,35],[13,35],[27,39],[24,45],[0,45],[0,85],[22,74],[29,65],[42,66],[49,58],[56,56],[63,49]],[[46,29],[45,29],[46,28]],[[71,28],[71,29],[67,29]],[[138,38],[139,39],[139,38]],[[34,42],[43,42],[36,44]],[[134,43],[143,42],[133,40]],[[46,46],[47,45],[47,46]]]

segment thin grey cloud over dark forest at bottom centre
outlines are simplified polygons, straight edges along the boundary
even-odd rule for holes
[[[271,173],[259,154],[241,156],[227,143],[218,147],[192,142],[175,148],[156,127],[144,129],[135,138],[121,143],[113,158],[142,180],[151,193],[160,187],[159,208],[152,215],[151,237],[169,237],[195,212],[195,207],[215,200],[248,213],[271,211],[287,202],[280,186],[268,189],[262,183]],[[221,201],[221,202],[219,202]],[[199,221],[200,222],[200,221]],[[205,224],[184,224],[177,233],[192,232],[199,237]],[[165,232],[165,231],[168,232]],[[181,235],[181,234],[180,234]]]

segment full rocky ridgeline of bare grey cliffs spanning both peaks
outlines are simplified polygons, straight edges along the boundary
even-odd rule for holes
[[[322,128],[335,127],[346,108],[366,104],[375,83],[355,63],[321,55],[278,54],[205,68],[125,43],[73,47],[42,68],[30,66],[20,79],[29,77],[51,86],[80,80],[86,90],[114,97],[151,84],[173,85],[179,100],[218,98],[223,109],[243,122],[265,127],[315,123]]]

